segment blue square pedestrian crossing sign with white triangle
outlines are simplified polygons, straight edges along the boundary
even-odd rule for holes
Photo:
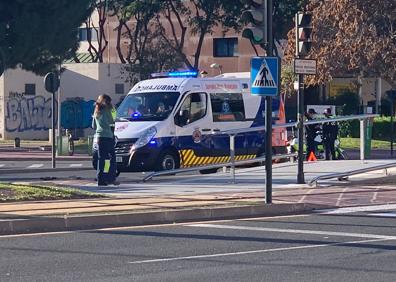
[[[252,95],[277,96],[280,82],[278,57],[254,57],[251,60],[250,87]]]

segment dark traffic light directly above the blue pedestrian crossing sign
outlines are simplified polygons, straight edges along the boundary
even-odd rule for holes
[[[242,20],[250,23],[242,31],[242,37],[249,39],[253,44],[267,43],[266,22],[266,0],[243,0],[248,10],[243,11]]]

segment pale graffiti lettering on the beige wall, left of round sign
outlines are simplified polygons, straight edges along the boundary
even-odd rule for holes
[[[24,95],[10,96],[5,105],[5,130],[24,132],[28,130],[48,130],[52,127],[52,98]],[[57,101],[55,101],[57,109]],[[57,114],[55,112],[55,122]]]

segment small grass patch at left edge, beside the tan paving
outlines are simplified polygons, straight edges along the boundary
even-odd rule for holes
[[[74,188],[0,183],[0,202],[103,198],[104,195]]]

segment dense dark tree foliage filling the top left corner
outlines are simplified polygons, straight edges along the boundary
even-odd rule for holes
[[[92,0],[2,0],[0,65],[45,74],[78,49],[78,28]]]

